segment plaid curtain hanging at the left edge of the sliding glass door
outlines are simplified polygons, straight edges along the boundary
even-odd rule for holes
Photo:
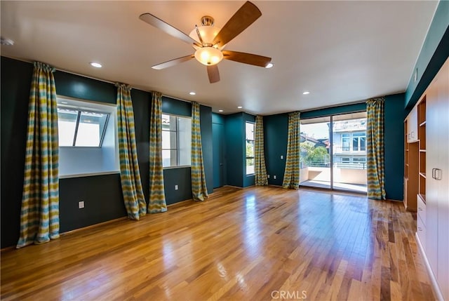
[[[283,188],[300,187],[300,112],[288,113],[288,142]]]

